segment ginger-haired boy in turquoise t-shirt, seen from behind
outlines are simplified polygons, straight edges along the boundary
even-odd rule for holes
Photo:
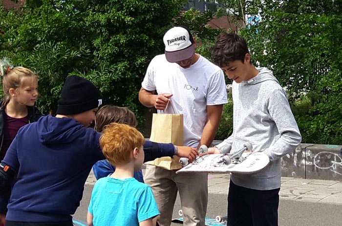
[[[148,185],[133,178],[144,162],[143,135],[124,124],[107,125],[100,139],[104,155],[115,171],[93,188],[87,223],[94,226],[152,226],[159,215]],[[156,220],[157,218],[155,218]]]

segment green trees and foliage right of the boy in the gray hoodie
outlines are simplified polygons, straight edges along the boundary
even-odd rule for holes
[[[221,9],[214,16],[239,23],[252,62],[272,69],[287,90],[302,142],[341,144],[342,1],[217,2]],[[256,15],[261,20],[248,20]],[[216,138],[231,131],[231,113],[226,106]]]

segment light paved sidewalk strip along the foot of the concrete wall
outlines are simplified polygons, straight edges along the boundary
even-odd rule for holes
[[[91,171],[86,184],[94,185],[95,182],[95,176]],[[208,175],[209,193],[228,194],[228,185],[229,175]],[[282,177],[279,196],[280,200],[342,205],[342,182]]]

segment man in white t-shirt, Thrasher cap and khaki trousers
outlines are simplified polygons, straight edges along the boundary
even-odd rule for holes
[[[218,129],[223,104],[227,103],[222,70],[195,54],[195,38],[184,26],[170,28],[163,38],[165,54],[154,57],[147,69],[139,100],[146,107],[184,115],[184,145],[210,146]],[[155,94],[155,92],[157,94]],[[169,104],[169,105],[170,105]],[[184,225],[204,226],[208,201],[208,175],[175,174],[147,166],[145,183],[150,185],[160,211],[161,226],[170,226],[177,191]]]

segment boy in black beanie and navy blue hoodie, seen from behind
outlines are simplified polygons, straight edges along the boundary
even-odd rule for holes
[[[70,76],[57,115],[41,117],[19,130],[1,162],[0,205],[10,197],[6,226],[73,225],[71,215],[80,205],[91,167],[104,159],[100,133],[87,128],[100,104],[94,84]]]

